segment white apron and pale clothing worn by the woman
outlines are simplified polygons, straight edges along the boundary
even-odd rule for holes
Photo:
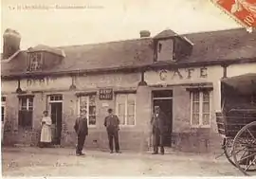
[[[49,116],[43,116],[42,122],[46,122],[46,124],[42,124],[41,130],[41,142],[51,142],[51,118]]]

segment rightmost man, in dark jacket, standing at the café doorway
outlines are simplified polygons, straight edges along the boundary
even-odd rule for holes
[[[160,146],[161,154],[164,154],[164,134],[166,128],[166,116],[161,112],[159,106],[155,106],[155,113],[151,119],[151,124],[153,127],[153,146],[154,152],[152,154],[158,153],[158,146]]]

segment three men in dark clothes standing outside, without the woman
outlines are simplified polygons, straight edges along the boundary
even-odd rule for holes
[[[151,119],[152,133],[153,133],[153,145],[154,152],[152,154],[158,153],[158,147],[160,147],[160,153],[164,154],[164,134],[166,127],[166,116],[160,111],[159,106],[155,106],[155,113]],[[108,116],[104,119],[104,126],[108,134],[109,149],[110,152],[114,152],[113,140],[115,143],[115,152],[119,151],[119,117],[113,114],[112,109],[108,109]],[[82,153],[83,144],[88,134],[86,111],[81,111],[81,116],[79,116],[74,125],[74,129],[78,134],[78,143],[76,148],[76,154],[78,156],[84,155]]]

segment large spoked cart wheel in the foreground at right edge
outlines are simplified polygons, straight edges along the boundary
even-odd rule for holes
[[[232,147],[233,162],[244,174],[256,170],[256,121],[244,126],[236,134]]]

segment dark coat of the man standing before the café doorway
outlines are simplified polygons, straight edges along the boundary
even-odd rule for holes
[[[166,122],[167,117],[165,116],[164,113],[160,112],[158,114],[158,116],[156,116],[156,114],[154,114],[151,118],[151,125],[153,127],[153,134],[156,133],[156,131],[158,131],[160,134],[164,134],[166,132]]]

